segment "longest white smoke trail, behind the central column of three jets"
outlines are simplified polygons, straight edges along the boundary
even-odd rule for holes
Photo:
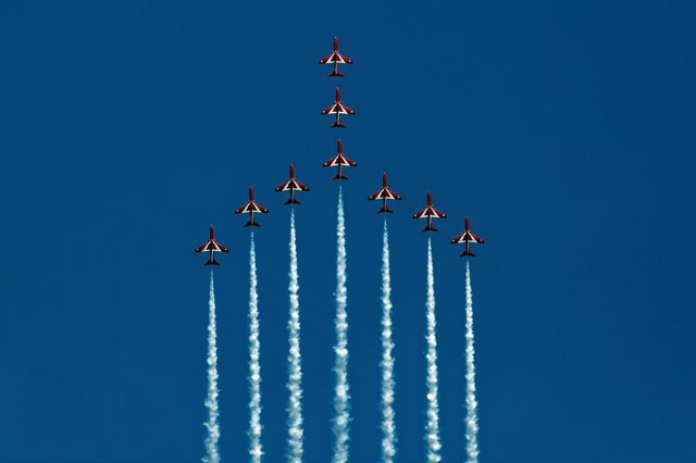
[[[348,437],[350,424],[350,395],[348,393],[348,291],[346,289],[346,224],[344,218],[343,189],[338,188],[338,222],[336,226],[336,359],[334,373],[336,388],[334,396],[334,463],[348,461]]]

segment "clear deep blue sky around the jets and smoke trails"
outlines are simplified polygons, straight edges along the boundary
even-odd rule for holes
[[[464,459],[464,214],[482,462],[696,461],[696,8],[681,1],[0,2],[0,461],[203,454],[208,226],[221,452],[247,460],[253,184],[263,443],[283,461],[294,162],[306,461],[331,455],[337,136],[351,461],[378,455],[384,170],[401,462],[424,460],[431,189],[445,462]],[[337,79],[357,115],[320,116]]]

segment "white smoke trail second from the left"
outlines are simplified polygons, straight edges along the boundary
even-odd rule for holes
[[[249,455],[253,463],[261,462],[261,364],[259,342],[259,293],[257,292],[257,253],[251,232],[249,248]]]

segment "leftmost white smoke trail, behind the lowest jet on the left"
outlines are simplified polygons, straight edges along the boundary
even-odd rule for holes
[[[213,283],[213,272],[210,271],[210,301],[208,318],[208,397],[206,408],[208,409],[208,437],[206,438],[206,463],[220,463],[220,452],[217,451],[217,440],[220,439],[220,425],[217,416],[217,328],[215,327],[215,285]]]

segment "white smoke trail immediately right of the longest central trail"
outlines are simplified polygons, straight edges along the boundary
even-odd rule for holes
[[[384,221],[382,237],[382,461],[391,463],[396,455],[394,425],[394,359],[391,350],[391,279],[389,275],[389,233]]]

